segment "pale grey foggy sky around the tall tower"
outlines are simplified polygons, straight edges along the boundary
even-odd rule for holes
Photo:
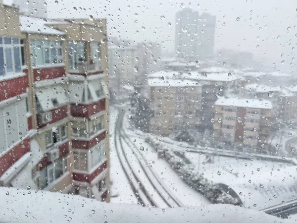
[[[48,0],[49,17],[106,17],[109,35],[135,41],[157,41],[172,52],[175,12],[181,7],[206,11],[216,15],[215,50],[248,51],[257,59],[266,58],[270,64],[275,62],[285,72],[292,71],[289,64],[293,62],[296,70],[296,62],[292,60],[295,54],[292,48],[296,47],[297,40],[296,0],[58,1],[56,5],[54,0]],[[162,15],[165,16],[163,20]],[[283,60],[285,64],[281,64]]]

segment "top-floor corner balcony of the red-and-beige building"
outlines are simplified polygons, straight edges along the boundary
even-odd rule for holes
[[[70,74],[78,75],[95,75],[103,73],[102,65],[100,61],[79,61],[76,69],[70,69]]]

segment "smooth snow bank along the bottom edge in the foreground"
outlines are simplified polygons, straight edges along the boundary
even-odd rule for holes
[[[232,205],[160,209],[103,203],[79,195],[0,188],[1,223],[289,223],[263,212]]]

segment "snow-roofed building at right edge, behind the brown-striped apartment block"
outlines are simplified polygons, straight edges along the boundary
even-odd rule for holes
[[[294,89],[285,86],[267,86],[248,84],[244,96],[261,98],[272,103],[273,116],[277,118],[293,118],[296,116],[297,98]]]

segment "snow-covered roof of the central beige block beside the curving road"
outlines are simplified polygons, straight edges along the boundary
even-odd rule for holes
[[[197,81],[193,80],[182,80],[182,79],[160,79],[151,78],[148,79],[148,85],[150,87],[198,87],[201,86]]]

